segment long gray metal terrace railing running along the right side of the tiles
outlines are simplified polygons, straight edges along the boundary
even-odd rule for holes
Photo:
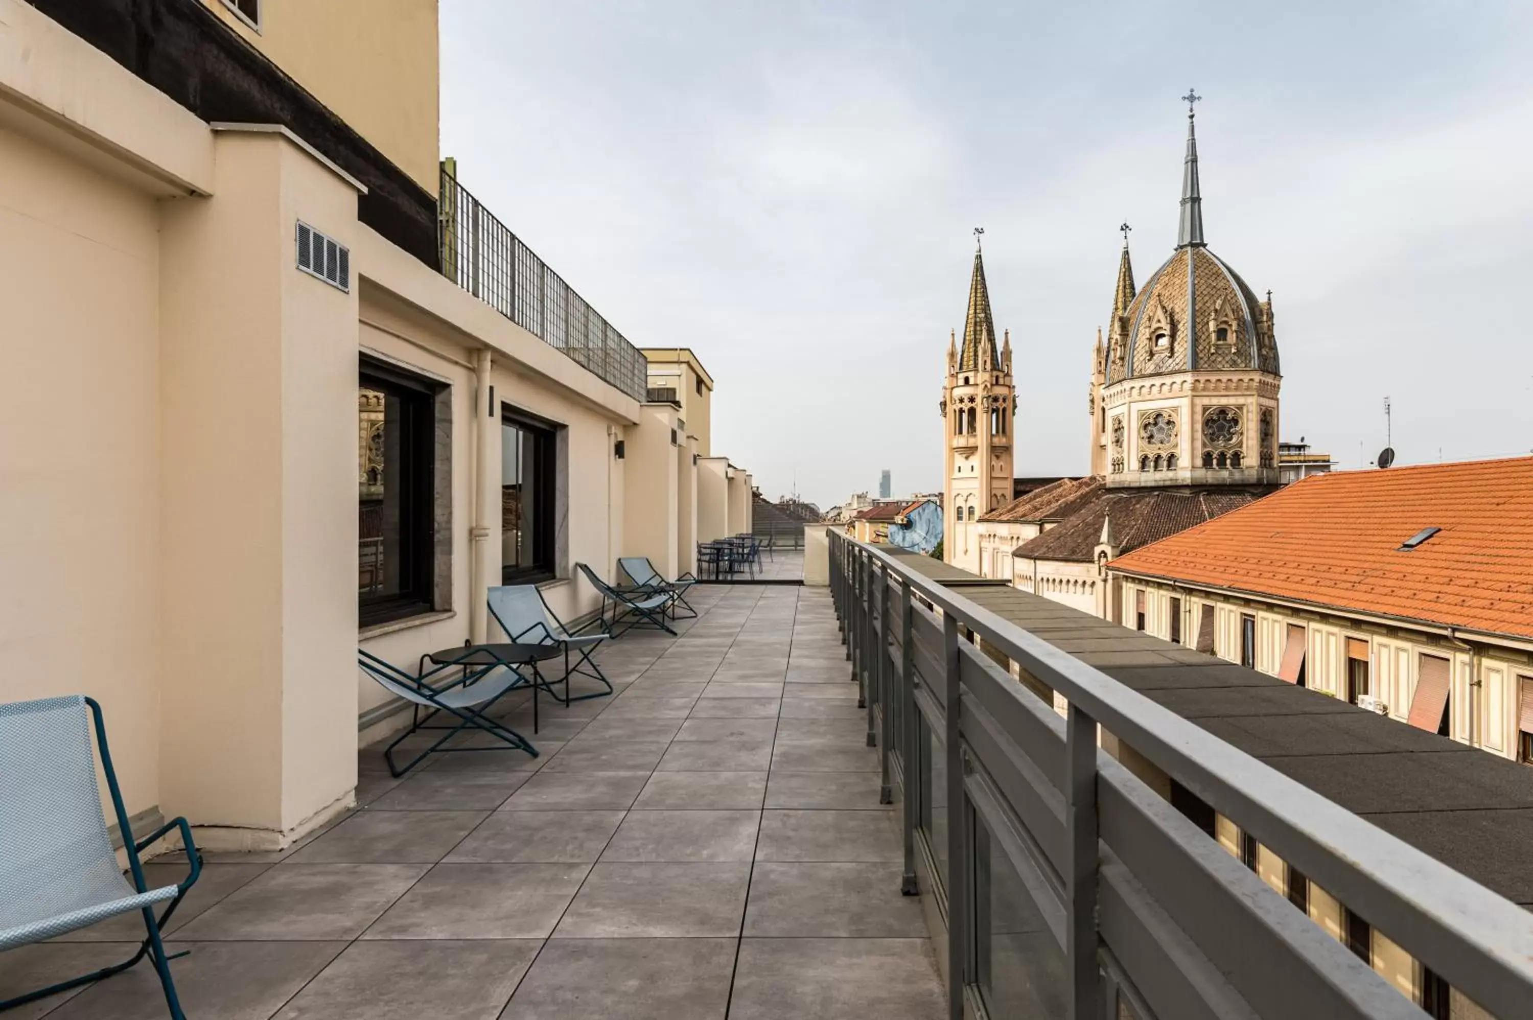
[[[1453,1011],[1433,1015],[1528,1015],[1533,914],[961,589],[829,543],[883,799],[904,808],[904,891],[946,931],[952,1020],[966,1005],[995,1020],[1426,1015],[1101,750],[1098,724],[1446,982]]]

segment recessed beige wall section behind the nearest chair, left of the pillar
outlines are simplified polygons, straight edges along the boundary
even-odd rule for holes
[[[155,196],[0,127],[0,701],[97,698],[130,814],[159,804],[158,293]]]

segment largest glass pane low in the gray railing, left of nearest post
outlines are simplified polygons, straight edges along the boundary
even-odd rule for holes
[[[975,816],[980,994],[992,1017],[1065,1015],[1065,962],[1027,887]]]

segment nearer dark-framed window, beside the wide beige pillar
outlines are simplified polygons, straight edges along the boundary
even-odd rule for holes
[[[434,592],[435,390],[363,360],[357,385],[357,617],[429,612]]]

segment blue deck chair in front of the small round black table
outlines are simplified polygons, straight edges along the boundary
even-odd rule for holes
[[[472,646],[464,647],[464,652],[471,650]],[[432,752],[503,750],[500,747],[443,747],[443,744],[469,727],[489,733],[512,750],[527,752],[533,758],[538,756],[538,749],[533,747],[521,733],[484,716],[484,712],[489,710],[489,707],[495,704],[495,701],[500,699],[500,696],[507,690],[527,686],[527,679],[514,669],[506,667],[498,676],[491,676],[491,673],[501,667],[471,667],[464,669],[463,675],[457,679],[451,679],[442,686],[432,686],[426,681],[438,673],[458,667],[449,663],[446,666],[426,670],[420,676],[411,676],[399,666],[386,663],[377,655],[363,652],[362,649],[357,649],[357,667],[376,679],[389,693],[411,702],[409,729],[394,738],[394,741],[383,749],[383,761],[388,762],[388,770],[394,775],[394,778],[403,776],[406,772],[425,761],[426,755],[431,755]],[[426,709],[425,715],[420,715],[422,709]],[[440,712],[446,712],[448,715],[457,718],[458,724],[429,726],[431,719]],[[403,767],[396,765],[394,749],[399,747],[406,738],[414,736],[419,730],[446,730],[446,733],[443,733],[442,739],[435,744],[411,758]]]

